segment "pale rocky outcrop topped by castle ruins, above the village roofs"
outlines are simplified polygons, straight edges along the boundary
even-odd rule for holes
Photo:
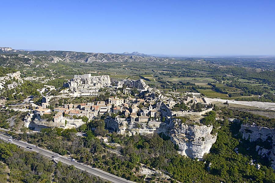
[[[70,88],[72,92],[77,93],[94,93],[98,92],[100,88],[111,85],[110,76],[91,76],[88,78],[72,78],[67,83],[64,83],[64,87]]]

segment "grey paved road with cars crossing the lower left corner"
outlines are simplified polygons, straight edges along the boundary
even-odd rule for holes
[[[7,141],[7,142],[9,142],[8,140],[10,139],[9,137],[7,137],[5,135],[2,135],[2,134],[0,134],[0,138],[4,141]],[[67,165],[74,165],[76,168],[78,168],[82,171],[86,171],[90,174],[93,174],[97,177],[103,178],[107,181],[111,181],[113,183],[134,183],[132,181],[128,181],[126,179],[117,177],[115,175],[109,174],[109,173],[107,173],[105,171],[102,171],[102,170],[99,170],[97,168],[93,168],[93,167],[90,167],[90,166],[82,164],[82,163],[73,162],[73,161],[69,160],[67,157],[64,157],[64,156],[61,156],[61,155],[56,155],[54,152],[42,149],[40,147],[34,147],[34,146],[32,146],[32,144],[26,144],[23,141],[13,139],[12,143],[17,145],[17,146],[23,147],[23,148],[26,148],[27,146],[31,147],[32,148],[31,151],[37,152],[39,154],[42,154],[43,156],[54,159],[55,161],[60,161],[60,162],[62,162],[64,164],[67,164]],[[27,150],[29,150],[29,149],[27,149]],[[54,158],[52,158],[52,156],[54,156]]]

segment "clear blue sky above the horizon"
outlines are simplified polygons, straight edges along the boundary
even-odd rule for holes
[[[275,1],[1,1],[0,47],[275,55]]]

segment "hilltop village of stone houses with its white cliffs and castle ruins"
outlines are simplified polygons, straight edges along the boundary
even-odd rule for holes
[[[88,120],[105,116],[105,129],[109,132],[128,136],[162,133],[179,146],[180,154],[199,159],[216,141],[216,134],[211,133],[213,126],[200,124],[201,115],[213,109],[200,93],[171,96],[149,87],[142,79],[111,81],[108,75],[90,74],[75,75],[63,86],[60,95],[45,95],[41,105],[32,104],[33,110],[25,117],[26,127],[34,131],[78,128]],[[50,106],[54,98],[100,98],[106,93],[110,94],[106,100]]]

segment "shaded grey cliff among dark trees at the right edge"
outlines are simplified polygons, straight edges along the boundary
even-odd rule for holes
[[[266,149],[263,146],[256,146],[256,151],[262,157],[268,157],[275,170],[275,129],[267,127],[259,127],[255,124],[242,124],[240,131],[242,138],[250,142],[266,142],[270,143],[270,147]]]

